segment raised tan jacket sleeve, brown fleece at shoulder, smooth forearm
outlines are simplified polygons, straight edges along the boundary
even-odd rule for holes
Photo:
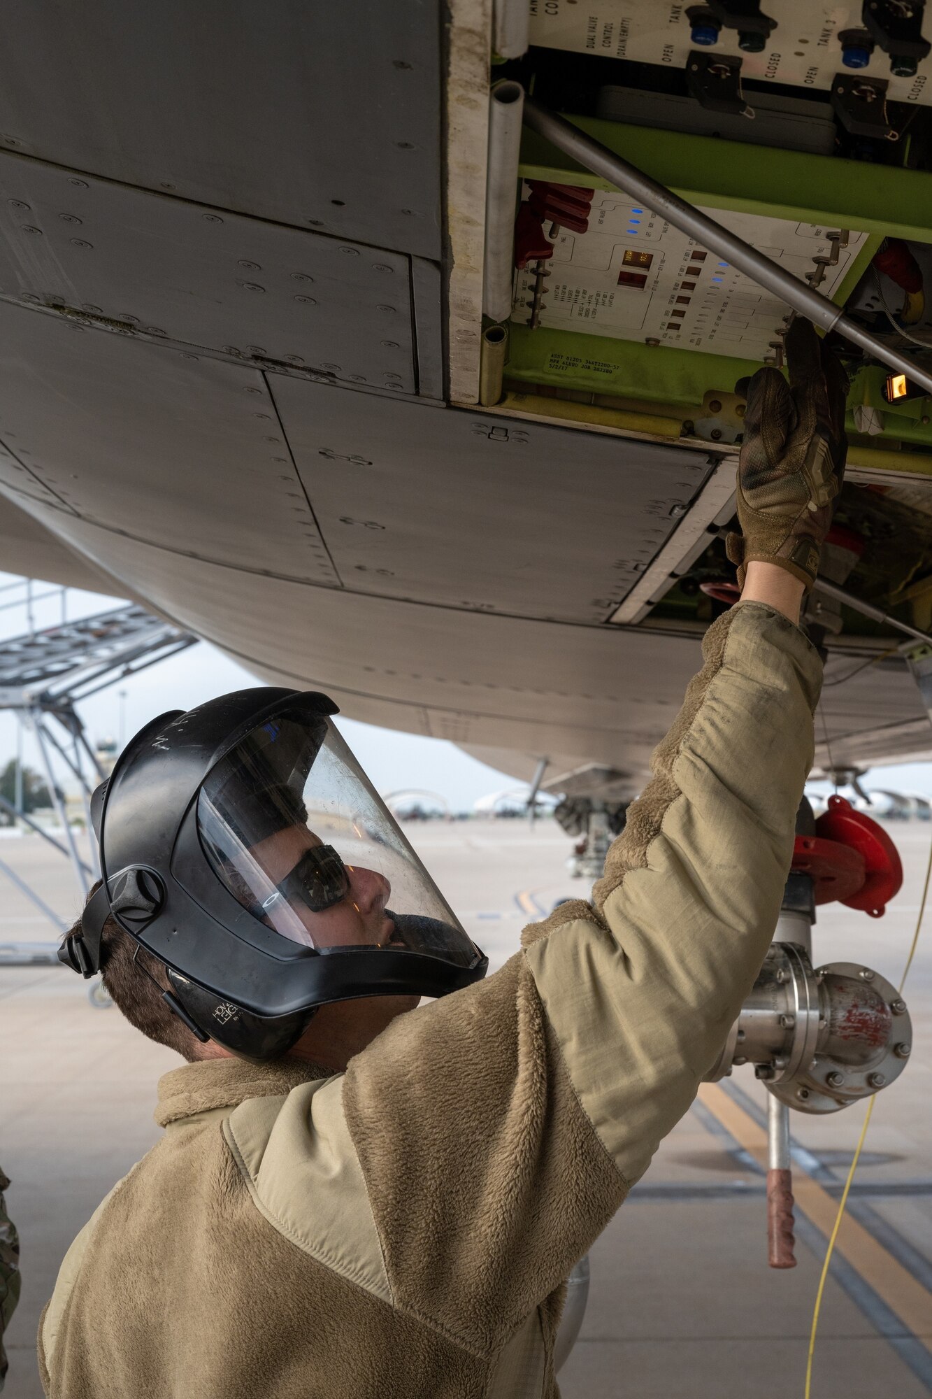
[[[687,1111],[770,943],[819,656],[743,603],[704,641],[593,905],[351,1060],[350,1135],[395,1305],[487,1350],[567,1276]]]

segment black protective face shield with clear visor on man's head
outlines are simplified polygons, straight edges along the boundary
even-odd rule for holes
[[[168,968],[200,1038],[271,1059],[315,1010],[442,996],[486,974],[320,694],[241,690],[169,713],[94,795],[104,884],[63,961],[92,975],[112,915]]]

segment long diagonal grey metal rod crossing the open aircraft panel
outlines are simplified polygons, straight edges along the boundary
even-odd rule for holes
[[[572,126],[571,122],[556,116],[553,112],[547,112],[546,108],[539,106],[529,97],[525,97],[525,123],[533,132],[537,132],[539,136],[543,136],[544,140],[550,141],[551,145],[556,145],[557,150],[563,151],[564,155],[570,155],[571,159],[577,161],[585,169],[592,171],[593,175],[610,180],[616,189],[623,190],[626,194],[633,194],[640,203],[647,204],[656,214],[661,214],[662,218],[666,218],[675,228],[689,234],[690,238],[698,239],[709,252],[728,259],[733,267],[737,267],[739,271],[743,271],[760,287],[772,291],[775,297],[779,297],[781,301],[786,302],[799,315],[807,316],[824,330],[837,330],[847,340],[851,340],[862,350],[868,350],[882,364],[889,365],[898,374],[905,374],[912,383],[919,385],[926,393],[932,395],[932,374],[922,369],[908,357],[884,346],[876,336],[862,330],[861,326],[844,315],[840,306],[835,306],[834,301],[828,301],[827,297],[823,297],[805,281],[800,281],[775,262],[771,262],[764,253],[751,248],[743,238],[729,232],[728,228],[722,228],[721,224],[716,224],[708,214],[696,208],[694,204],[689,204],[665,185],[659,185],[649,175],[645,175],[644,171],[640,171],[635,165],[630,165],[628,161],[616,155],[614,151],[602,145],[600,141],[595,141],[577,126]]]

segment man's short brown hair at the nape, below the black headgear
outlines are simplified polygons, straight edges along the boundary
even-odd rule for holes
[[[88,900],[99,887],[98,880]],[[80,930],[78,918],[69,933]],[[197,1039],[162,1000],[162,990],[171,990],[164,964],[140,947],[113,918],[104,923],[101,971],[105,990],[132,1025],[157,1044],[175,1049],[189,1063],[200,1058]]]

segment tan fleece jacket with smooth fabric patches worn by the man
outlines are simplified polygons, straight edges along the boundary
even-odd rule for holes
[[[771,939],[820,663],[744,603],[595,907],[402,1016],[343,1074],[165,1074],[162,1140],[71,1245],[55,1399],[556,1396],[563,1281],[686,1112]]]

